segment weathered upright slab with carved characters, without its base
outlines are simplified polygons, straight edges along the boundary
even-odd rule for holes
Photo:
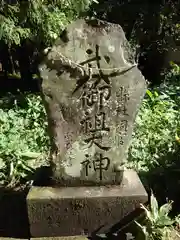
[[[78,20],[40,67],[53,172],[66,185],[120,183],[146,83],[119,25]]]

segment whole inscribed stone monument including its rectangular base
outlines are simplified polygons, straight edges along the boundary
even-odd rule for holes
[[[147,201],[137,174],[124,170],[145,79],[122,28],[96,19],[69,25],[39,69],[52,182],[28,194],[31,234],[106,233]]]

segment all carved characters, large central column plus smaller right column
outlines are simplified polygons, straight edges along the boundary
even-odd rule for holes
[[[86,53],[90,58],[80,64],[87,64],[89,77],[79,79],[74,92],[76,92],[79,88],[82,88],[81,107],[84,114],[80,124],[82,125],[84,133],[88,136],[84,139],[84,142],[88,144],[88,147],[95,145],[97,149],[99,149],[99,152],[96,153],[99,154],[99,158],[96,156],[96,160],[91,160],[92,162],[88,158],[81,162],[81,164],[85,168],[86,176],[88,176],[89,169],[91,168],[94,171],[99,170],[99,177],[100,180],[102,180],[102,172],[108,170],[110,166],[110,159],[103,155],[103,151],[109,151],[111,149],[111,146],[107,146],[103,143],[104,133],[108,133],[110,131],[110,128],[106,123],[107,116],[105,111],[108,107],[108,101],[111,98],[111,82],[109,77],[113,77],[118,74],[115,73],[108,75],[103,73],[100,66],[102,57],[99,56],[98,45],[96,45],[95,56],[93,56],[93,50],[91,49],[88,49]],[[107,63],[110,62],[110,58],[108,56],[104,56],[104,59]],[[92,73],[92,62],[96,62],[98,74]],[[124,136],[126,136],[128,132],[128,120],[126,117],[128,117],[127,104],[130,99],[129,92],[122,86],[117,91],[116,97],[118,101],[116,112],[118,116],[121,116],[120,122],[118,123],[120,134],[119,144],[124,145]],[[99,159],[98,168],[95,167],[97,159]]]

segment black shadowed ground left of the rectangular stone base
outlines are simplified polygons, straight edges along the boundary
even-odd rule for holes
[[[29,238],[28,189],[0,189],[0,237]]]

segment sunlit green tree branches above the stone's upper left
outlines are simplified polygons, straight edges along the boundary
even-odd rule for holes
[[[20,45],[30,39],[49,45],[65,26],[95,0],[30,0],[8,4],[0,1],[0,40]]]

